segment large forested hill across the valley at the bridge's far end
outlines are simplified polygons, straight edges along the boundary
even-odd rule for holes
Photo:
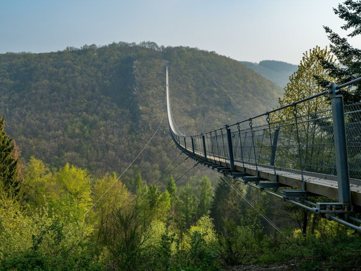
[[[69,162],[101,175],[121,172],[163,120],[134,168],[145,180],[155,179],[178,155],[168,133],[164,60],[175,117],[188,133],[266,111],[283,94],[238,61],[196,48],[119,42],[5,53],[0,55],[5,131],[25,161],[34,155],[52,167]]]

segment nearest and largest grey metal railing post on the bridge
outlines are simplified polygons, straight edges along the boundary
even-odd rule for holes
[[[331,112],[335,140],[336,171],[339,202],[351,204],[350,173],[347,158],[346,124],[343,96],[338,95],[336,84],[330,86]]]

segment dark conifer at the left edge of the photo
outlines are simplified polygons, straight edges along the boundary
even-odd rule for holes
[[[6,193],[19,193],[19,159],[13,139],[4,131],[4,118],[0,115],[0,189]]]

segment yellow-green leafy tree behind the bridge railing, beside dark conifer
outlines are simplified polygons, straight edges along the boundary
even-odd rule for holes
[[[316,46],[303,54],[298,70],[291,75],[290,82],[284,89],[284,97],[279,98],[280,107],[325,90],[317,78],[323,78],[329,82],[335,81],[335,78],[332,78],[323,68],[321,60],[335,63],[333,55],[327,47],[321,49]],[[328,95],[322,95],[296,105],[298,131],[296,131],[295,125],[292,125],[295,123],[294,107],[279,110],[274,116],[274,119],[279,121],[278,125],[282,125],[280,133],[286,135],[283,138],[287,141],[284,145],[297,146],[298,140],[300,140],[302,165],[306,171],[319,172],[322,170],[322,173],[332,174],[333,162],[325,160],[325,151],[327,150],[322,144],[333,142],[332,131],[329,119],[319,120],[319,118],[329,117],[331,114],[328,111],[330,108],[328,98]],[[284,124],[287,126],[283,126]],[[296,132],[298,132],[298,136]],[[280,157],[287,157],[284,159],[284,161],[287,160],[287,164],[282,162],[283,164],[278,164],[278,166],[288,167],[292,163],[293,168],[301,169],[297,147],[293,148],[293,151],[288,148],[279,148],[277,152]],[[329,155],[329,153],[326,154],[326,156]]]

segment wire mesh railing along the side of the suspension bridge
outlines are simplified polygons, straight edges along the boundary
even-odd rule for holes
[[[176,136],[179,144],[188,151],[193,151],[193,138],[194,151],[197,154],[204,156],[206,152],[210,159],[230,163],[226,133],[226,130],[230,129],[235,163],[273,167],[302,174],[312,173],[312,176],[335,179],[337,167],[334,125],[330,100],[325,95],[328,93],[329,91],[323,91],[292,105],[236,122],[228,128],[219,128],[196,136],[181,132]],[[344,119],[349,176],[360,182],[361,103],[344,105]],[[248,127],[244,128],[243,125],[241,129],[240,124],[247,122]],[[253,125],[262,122],[262,125]]]

